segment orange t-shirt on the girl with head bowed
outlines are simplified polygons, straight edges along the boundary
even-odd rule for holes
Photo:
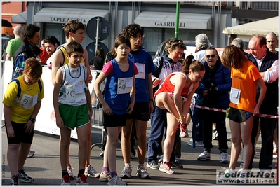
[[[253,113],[256,105],[257,83],[262,78],[258,68],[250,61],[245,61],[241,69],[233,69],[231,72],[232,88],[240,90],[239,104],[230,102],[229,106]]]

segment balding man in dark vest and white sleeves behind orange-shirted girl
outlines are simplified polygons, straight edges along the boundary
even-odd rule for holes
[[[253,62],[260,71],[260,75],[265,81],[267,92],[265,99],[260,106],[261,114],[277,115],[278,106],[278,55],[269,51],[266,47],[265,36],[260,34],[251,36],[249,41],[249,49],[251,54],[246,55],[248,60]],[[257,100],[260,94],[260,88],[257,88]],[[260,131],[262,136],[262,148],[260,151],[259,169],[270,173],[272,167],[272,151],[273,151],[273,132],[275,128],[275,119],[272,118],[254,118],[252,130],[252,144],[255,145],[255,137],[258,131],[258,123],[260,120]],[[248,169],[252,168],[253,154]]]

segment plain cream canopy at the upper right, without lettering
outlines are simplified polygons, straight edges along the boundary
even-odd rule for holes
[[[269,32],[274,32],[277,36],[279,34],[279,16],[259,20],[256,22],[249,22],[242,25],[233,27],[225,27],[222,33],[224,34],[237,34],[251,36],[253,34],[267,35]],[[239,37],[239,36],[237,36]]]

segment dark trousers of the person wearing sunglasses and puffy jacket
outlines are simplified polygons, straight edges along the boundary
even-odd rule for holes
[[[212,125],[216,123],[216,130],[218,132],[218,145],[220,151],[226,151],[227,146],[227,129],[225,125],[225,113],[218,111],[204,111],[202,118],[204,149],[211,150],[212,145]],[[201,124],[200,124],[201,125]]]

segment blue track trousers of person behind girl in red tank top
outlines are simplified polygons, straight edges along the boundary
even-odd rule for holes
[[[149,164],[157,162],[156,156],[159,155],[159,152],[161,151],[161,141],[165,134],[164,128],[167,127],[166,112],[166,109],[159,109],[159,107],[154,106],[154,111],[151,114],[151,131],[149,134],[147,153],[147,162]],[[174,145],[176,144],[177,138],[175,137]],[[174,149],[175,146],[173,146],[170,161],[175,161]]]

